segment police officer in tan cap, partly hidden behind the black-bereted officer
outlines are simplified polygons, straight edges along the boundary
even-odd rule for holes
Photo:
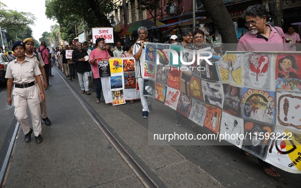
[[[35,41],[33,38],[27,38],[23,41],[23,43],[25,44],[25,56],[30,58],[31,60],[34,60],[38,64],[38,67],[40,67],[40,70],[42,72],[42,74],[40,75],[42,84],[44,86],[44,89],[47,90],[48,83],[47,80],[45,82],[46,72],[44,69],[44,61],[40,52],[33,51],[34,42]],[[37,58],[37,56],[39,56],[39,59]],[[42,115],[42,120],[45,122],[45,125],[51,125],[51,121],[47,117],[46,100],[42,100],[41,102],[41,115]]]

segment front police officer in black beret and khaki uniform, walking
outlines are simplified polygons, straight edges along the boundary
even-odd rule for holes
[[[7,102],[9,105],[12,105],[11,91],[14,83],[15,116],[22,126],[25,134],[24,140],[26,143],[29,143],[31,141],[31,133],[34,131],[36,143],[40,144],[43,141],[41,137],[40,103],[41,100],[45,99],[40,77],[41,71],[35,61],[25,58],[25,44],[22,41],[15,42],[12,50],[15,52],[17,58],[7,66],[5,75],[8,78]],[[35,80],[37,80],[38,86],[35,84]],[[29,106],[31,112],[34,130],[29,126],[26,113],[27,106]]]

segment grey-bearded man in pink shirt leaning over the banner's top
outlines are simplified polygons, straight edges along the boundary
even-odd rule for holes
[[[242,15],[249,32],[239,41],[238,51],[286,51],[285,36],[281,28],[267,24],[269,14],[263,5],[250,6]]]

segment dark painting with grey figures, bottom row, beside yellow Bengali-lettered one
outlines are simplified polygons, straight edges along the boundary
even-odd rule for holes
[[[264,159],[271,143],[271,125],[256,121],[244,120],[244,135],[242,148]]]

